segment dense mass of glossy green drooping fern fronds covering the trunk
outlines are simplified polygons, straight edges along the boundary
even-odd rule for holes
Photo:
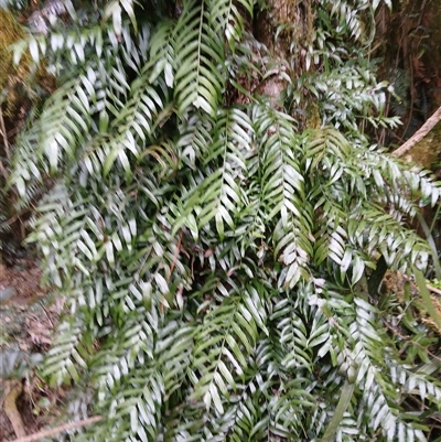
[[[28,241],[65,298],[39,374],[72,385],[69,419],[103,417],[71,440],[441,436],[412,289],[440,185],[373,137],[400,123],[370,56],[390,1],[297,2],[283,57],[256,36],[267,3],[65,1],[14,45],[57,78],[8,185],[19,208],[44,186]]]

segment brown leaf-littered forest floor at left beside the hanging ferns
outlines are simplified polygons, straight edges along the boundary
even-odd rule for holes
[[[0,441],[13,441],[53,423],[65,397],[34,367],[52,344],[63,302],[40,287],[34,257],[0,262]]]

